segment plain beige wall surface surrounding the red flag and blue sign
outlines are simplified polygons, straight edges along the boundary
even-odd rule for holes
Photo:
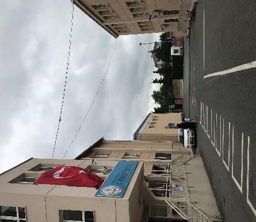
[[[114,167],[117,162],[117,160],[110,160],[102,164],[103,166]],[[137,193],[132,194],[132,192],[133,187],[137,187],[137,178],[143,174],[142,162],[137,165],[122,198],[95,197],[97,190],[93,187],[9,183],[24,173],[36,175],[30,169],[38,164],[60,164],[87,169],[88,166],[91,166],[91,160],[31,159],[21,164],[21,166],[0,175],[0,206],[25,207],[27,221],[59,221],[59,210],[93,211],[95,221],[131,221],[129,199],[131,195],[137,195]],[[101,163],[99,162],[99,164]],[[94,166],[97,164],[94,163]],[[37,172],[39,175],[43,173],[42,171]],[[107,177],[103,174],[98,175]],[[133,214],[136,215],[136,213]]]

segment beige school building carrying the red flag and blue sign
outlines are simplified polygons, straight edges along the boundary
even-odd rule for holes
[[[120,161],[137,162],[121,198],[95,196],[92,187],[32,184],[57,166],[78,166],[106,182]],[[32,158],[0,175],[4,222],[221,221],[217,215],[200,156],[170,141],[101,138],[74,160]]]

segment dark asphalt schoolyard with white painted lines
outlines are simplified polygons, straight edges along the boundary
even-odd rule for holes
[[[225,221],[256,221],[256,1],[199,0],[185,40],[184,113]]]

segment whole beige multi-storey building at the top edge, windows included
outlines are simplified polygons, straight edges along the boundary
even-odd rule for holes
[[[171,32],[184,36],[187,10],[194,0],[74,0],[87,16],[112,36]]]

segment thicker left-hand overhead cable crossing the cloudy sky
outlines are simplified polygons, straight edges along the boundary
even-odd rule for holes
[[[60,108],[59,123],[58,123],[56,137],[55,137],[54,149],[52,151],[52,158],[54,158],[54,151],[55,151],[56,142],[57,142],[57,138],[58,138],[58,134],[59,134],[60,121],[62,121],[62,109],[63,109],[63,105],[64,105],[64,97],[65,97],[65,91],[66,91],[66,86],[67,86],[67,74],[68,74],[68,67],[69,67],[69,63],[70,63],[70,49],[71,49],[71,39],[72,39],[72,27],[73,27],[73,20],[74,20],[74,0],[71,0],[71,3],[72,3],[72,18],[71,18],[70,38],[69,38],[70,44],[68,45],[68,56],[67,56],[66,76],[65,76],[65,83],[64,83],[63,97],[62,97],[62,106]]]

